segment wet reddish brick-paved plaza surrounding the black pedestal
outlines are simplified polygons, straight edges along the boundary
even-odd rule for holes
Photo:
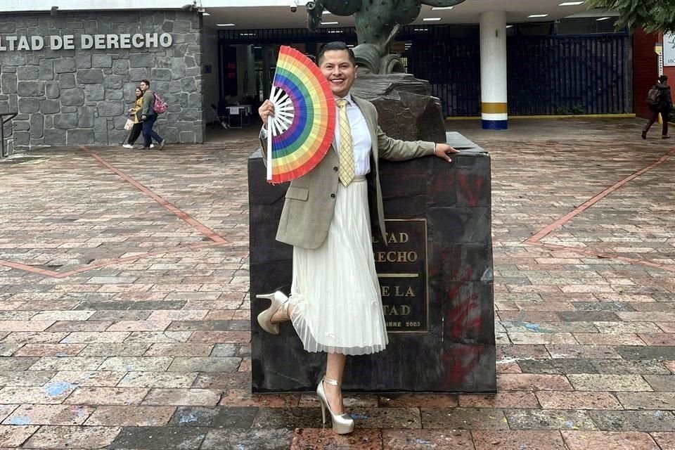
[[[499,394],[252,396],[255,129],[0,162],[0,448],[675,449],[675,155],[638,120],[491,151]],[[633,176],[636,174],[637,176]]]

